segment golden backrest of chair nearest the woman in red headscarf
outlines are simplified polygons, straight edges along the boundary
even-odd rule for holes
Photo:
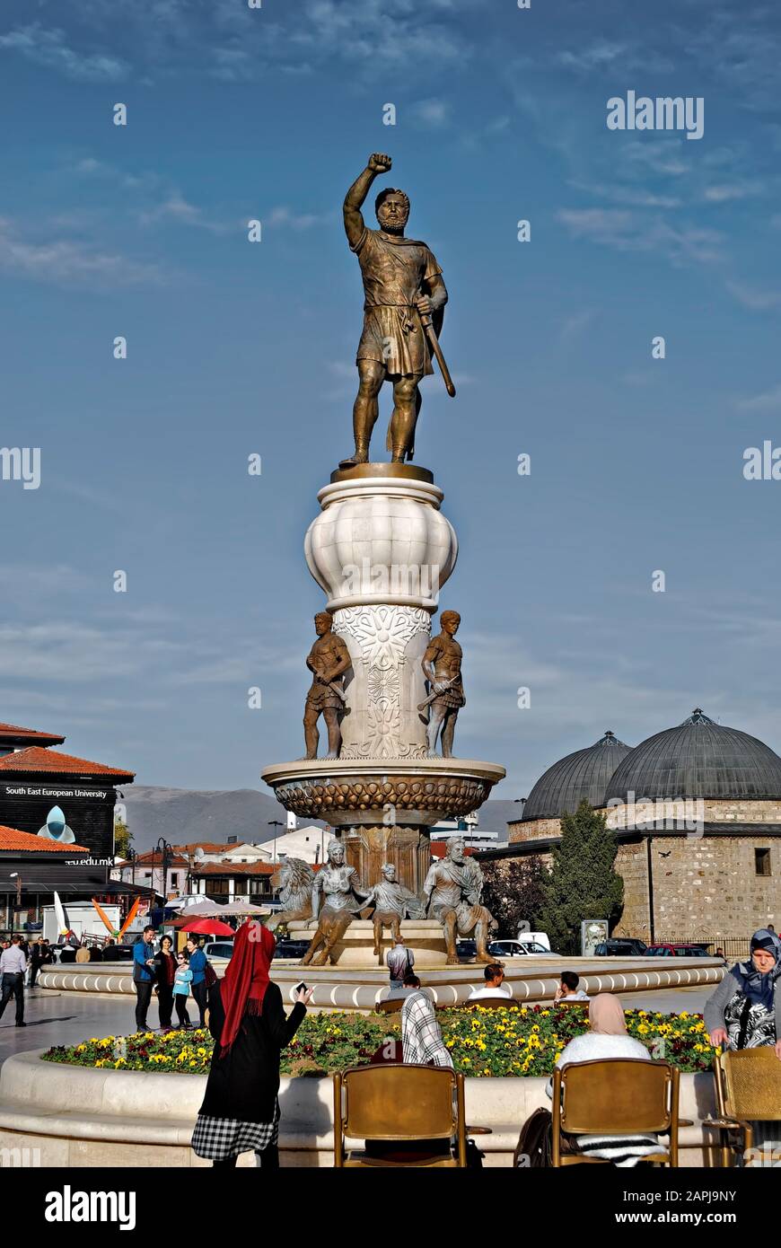
[[[449,1139],[455,1129],[457,1076],[447,1066],[358,1066],[342,1073],[342,1087],[346,1136]]]

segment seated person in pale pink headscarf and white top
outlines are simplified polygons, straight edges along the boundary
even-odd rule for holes
[[[563,1070],[570,1062],[594,1062],[604,1057],[630,1057],[650,1061],[645,1045],[626,1033],[624,1007],[610,992],[600,992],[589,1001],[591,1030],[575,1036],[561,1052],[556,1066]],[[553,1096],[553,1078],[545,1088]],[[569,1136],[568,1151],[585,1153],[613,1162],[614,1166],[636,1166],[649,1153],[659,1152],[656,1136]]]

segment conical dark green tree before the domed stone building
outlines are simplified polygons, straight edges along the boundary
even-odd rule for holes
[[[624,881],[614,870],[616,852],[615,834],[588,801],[581,801],[574,815],[561,817],[561,840],[544,879],[541,914],[553,948],[556,941],[571,941],[579,952],[584,919],[606,919],[611,927],[618,922]]]

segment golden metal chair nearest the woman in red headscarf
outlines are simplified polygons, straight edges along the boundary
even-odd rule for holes
[[[464,1076],[447,1066],[356,1066],[333,1076],[333,1164],[377,1167],[467,1166]],[[344,1137],[414,1144],[415,1153],[369,1156]],[[455,1136],[453,1157],[450,1141]],[[434,1143],[442,1141],[440,1149]]]

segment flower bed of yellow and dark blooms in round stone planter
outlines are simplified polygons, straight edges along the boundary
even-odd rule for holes
[[[588,1031],[586,1013],[578,1006],[438,1010],[437,1017],[455,1070],[477,1077],[550,1075],[566,1042]],[[665,1058],[681,1071],[711,1070],[715,1050],[701,1015],[628,1010],[625,1018],[629,1035],[643,1041],[651,1057]],[[400,1015],[307,1015],[282,1053],[281,1070],[283,1075],[317,1076],[359,1066],[384,1040],[399,1036]],[[69,1048],[50,1048],[42,1056],[44,1061],[72,1066],[202,1075],[208,1071],[212,1048],[208,1031],[137,1032],[92,1037]]]

